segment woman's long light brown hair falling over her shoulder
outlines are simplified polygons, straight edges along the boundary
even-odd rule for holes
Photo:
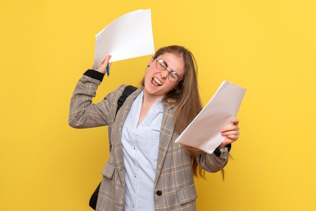
[[[196,115],[202,110],[201,100],[197,85],[197,64],[192,52],[183,46],[171,45],[162,47],[155,52],[153,59],[165,54],[172,53],[179,55],[184,61],[184,76],[176,89],[171,90],[163,98],[166,105],[176,105],[175,129],[178,134],[192,122]],[[144,86],[144,78],[141,81]],[[192,156],[192,168],[194,176],[205,178],[205,171],[200,168],[195,160],[195,156],[202,150],[190,146],[184,146],[186,151]]]

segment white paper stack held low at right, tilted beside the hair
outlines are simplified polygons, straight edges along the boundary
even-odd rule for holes
[[[212,153],[225,139],[221,129],[232,125],[237,116],[245,88],[223,81],[202,111],[175,140],[176,143]]]

